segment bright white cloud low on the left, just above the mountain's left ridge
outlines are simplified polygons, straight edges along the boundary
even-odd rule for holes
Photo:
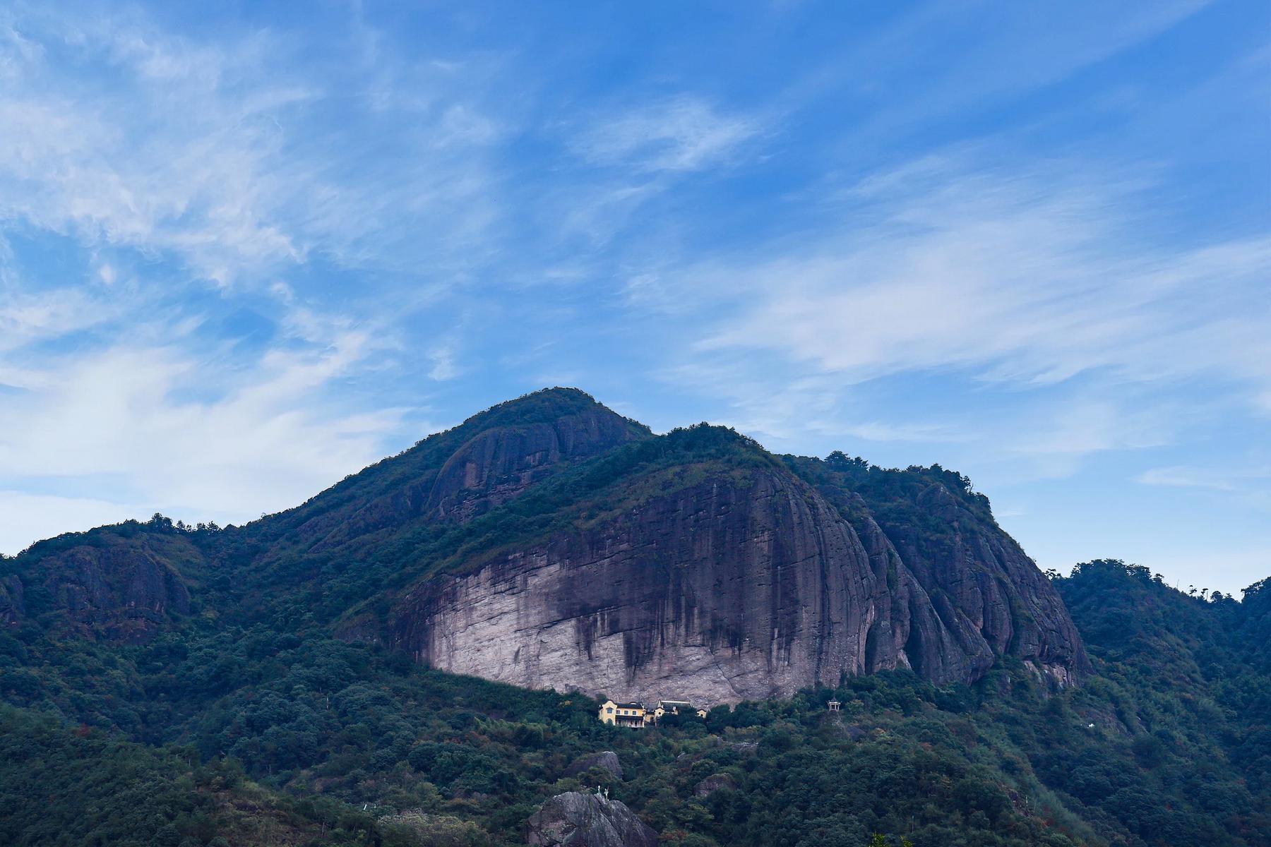
[[[271,350],[245,376],[174,348],[69,358],[6,396],[0,467],[33,479],[117,475],[132,500],[221,521],[292,505],[376,458],[399,423],[398,410],[342,410],[324,392],[367,345],[344,333],[319,353]]]

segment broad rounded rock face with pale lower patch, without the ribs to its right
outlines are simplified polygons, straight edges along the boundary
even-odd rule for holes
[[[407,598],[399,644],[455,673],[623,700],[717,704],[862,673],[885,588],[805,488],[710,480],[435,579]]]

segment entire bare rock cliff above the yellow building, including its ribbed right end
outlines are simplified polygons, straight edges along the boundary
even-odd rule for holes
[[[938,491],[921,508],[948,550],[897,544],[862,498],[775,461],[680,471],[637,475],[620,483],[646,491],[634,504],[425,580],[388,637],[455,673],[708,705],[897,667],[972,681],[998,654],[1061,684],[1087,668],[1045,577],[995,526],[963,531],[974,516]]]

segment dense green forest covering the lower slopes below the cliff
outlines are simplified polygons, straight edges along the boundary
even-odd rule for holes
[[[1056,584],[1097,665],[1079,688],[897,672],[644,731],[316,630],[194,613],[121,646],[28,621],[0,634],[0,842],[512,844],[602,786],[699,847],[1268,843],[1271,587],[1200,598],[1118,561]],[[623,778],[564,776],[604,749]]]

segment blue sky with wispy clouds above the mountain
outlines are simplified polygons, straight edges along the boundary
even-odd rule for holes
[[[1267,4],[202,5],[0,10],[0,550],[576,385],[1271,574]]]

